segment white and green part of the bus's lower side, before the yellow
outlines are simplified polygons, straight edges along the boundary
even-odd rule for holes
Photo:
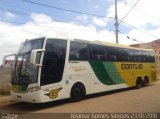
[[[128,87],[124,80],[121,79],[114,63],[99,61],[70,62],[68,64],[67,75],[70,91],[76,82],[84,84],[86,94]]]

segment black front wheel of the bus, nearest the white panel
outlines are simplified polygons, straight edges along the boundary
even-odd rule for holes
[[[80,101],[86,95],[85,87],[81,83],[76,83],[71,89],[71,99],[73,101]]]

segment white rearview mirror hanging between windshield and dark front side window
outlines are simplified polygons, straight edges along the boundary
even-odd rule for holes
[[[30,63],[36,66],[42,66],[40,59],[41,59],[41,54],[44,51],[45,49],[32,50],[31,57],[30,57]]]

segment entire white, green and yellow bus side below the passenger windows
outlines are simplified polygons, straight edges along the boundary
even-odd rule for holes
[[[67,71],[69,92],[76,82],[82,82],[86,94],[135,86],[138,76],[148,76],[150,83],[156,79],[154,63],[80,61],[69,63]]]

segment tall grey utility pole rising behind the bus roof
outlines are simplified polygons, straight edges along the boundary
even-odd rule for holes
[[[117,0],[115,0],[115,35],[116,35],[116,43],[118,43],[118,15],[117,15]]]

